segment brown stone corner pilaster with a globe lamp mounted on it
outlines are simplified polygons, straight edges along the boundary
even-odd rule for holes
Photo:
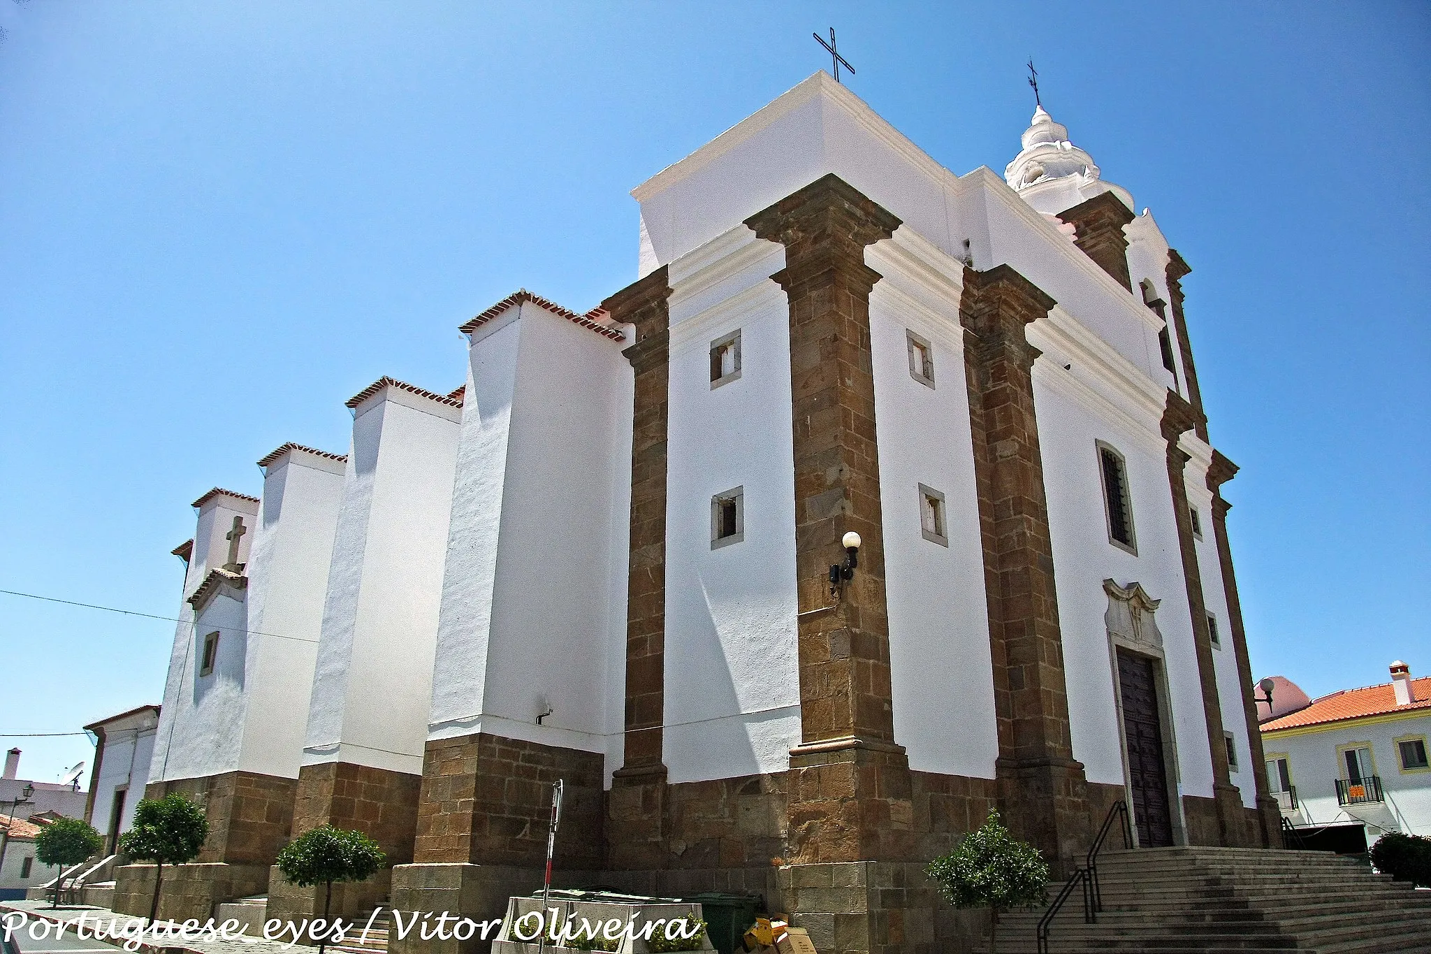
[[[746,220],[786,246],[771,277],[790,302],[801,744],[790,752],[790,861],[900,857],[910,777],[894,744],[880,515],[870,290],[864,246],[900,220],[824,176]],[[859,569],[831,599],[840,539]]]

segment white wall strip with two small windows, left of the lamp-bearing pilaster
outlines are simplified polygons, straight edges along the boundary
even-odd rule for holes
[[[671,782],[777,772],[800,741],[790,319],[784,250],[748,229],[671,269],[665,731]],[[740,378],[710,346],[740,330]],[[744,536],[711,546],[711,498],[743,488]]]

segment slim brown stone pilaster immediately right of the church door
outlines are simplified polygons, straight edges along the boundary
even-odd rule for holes
[[[1208,632],[1208,606],[1202,596],[1202,574],[1198,569],[1196,539],[1192,535],[1192,515],[1188,509],[1188,485],[1183,473],[1188,453],[1178,446],[1178,438],[1192,431],[1199,418],[1201,415],[1188,400],[1172,390],[1168,392],[1162,435],[1168,443],[1168,485],[1172,489],[1182,576],[1186,582],[1188,605],[1192,611],[1192,638],[1198,654],[1198,679],[1202,684],[1202,714],[1208,725],[1208,748],[1212,752],[1212,800],[1218,824],[1218,844],[1242,845],[1246,842],[1246,817],[1242,810],[1242,794],[1228,774],[1228,749],[1222,735],[1222,705],[1218,701],[1212,638]],[[1198,815],[1198,811],[1191,814]],[[1189,835],[1199,837],[1199,832],[1191,831]],[[1201,837],[1205,838],[1206,834],[1203,832]]]

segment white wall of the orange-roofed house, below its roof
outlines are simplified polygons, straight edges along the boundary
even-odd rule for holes
[[[1299,825],[1325,825],[1334,821],[1367,822],[1367,842],[1385,831],[1431,835],[1431,769],[1404,771],[1395,741],[1422,737],[1431,747],[1431,712],[1401,717],[1377,717],[1317,729],[1289,729],[1264,734],[1266,757],[1286,755],[1296,788],[1299,808],[1288,817]],[[1371,747],[1372,768],[1385,792],[1385,801],[1338,805],[1335,780],[1347,777],[1338,745]]]

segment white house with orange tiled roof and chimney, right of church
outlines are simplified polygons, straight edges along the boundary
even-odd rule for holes
[[[1274,689],[1272,711],[1259,704],[1268,782],[1288,821],[1361,822],[1367,844],[1431,835],[1431,678],[1412,679],[1398,659],[1391,682],[1301,699],[1285,707]]]

